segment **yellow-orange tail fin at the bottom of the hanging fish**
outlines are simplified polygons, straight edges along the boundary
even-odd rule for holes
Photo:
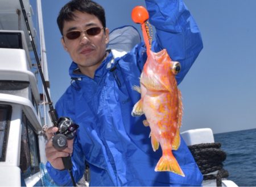
[[[171,152],[171,151],[170,151]],[[180,168],[179,164],[177,163],[177,160],[175,159],[174,155],[171,154],[163,154],[162,157],[160,157],[158,164],[156,164],[155,167],[156,172],[173,172],[176,174],[179,174],[181,176],[185,176],[182,169]]]

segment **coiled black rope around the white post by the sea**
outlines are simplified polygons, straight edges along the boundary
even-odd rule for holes
[[[216,179],[216,185],[221,186],[221,179],[229,176],[223,169],[222,162],[226,159],[226,153],[220,149],[221,143],[203,143],[188,146],[204,180]],[[208,174],[216,172],[217,174]]]

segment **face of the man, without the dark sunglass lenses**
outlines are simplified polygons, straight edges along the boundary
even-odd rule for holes
[[[80,11],[75,11],[74,15],[74,20],[64,22],[61,43],[72,60],[79,66],[81,72],[93,77],[95,70],[105,58],[109,30],[106,28],[104,33],[102,29],[100,34],[95,36],[81,32],[79,38],[68,39],[66,34],[71,31],[85,31],[92,27],[103,28],[100,20],[95,15],[81,13]]]

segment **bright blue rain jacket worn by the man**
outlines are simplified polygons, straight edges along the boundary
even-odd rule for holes
[[[182,1],[146,0],[150,22],[156,28],[152,51],[166,48],[172,60],[181,63],[177,82],[201,51],[200,32]],[[126,55],[115,57],[110,52],[96,70],[94,78],[79,73],[72,63],[69,74],[73,83],[56,103],[59,117],[69,117],[79,124],[74,142],[73,175],[79,181],[90,167],[90,186],[200,186],[203,180],[188,147],[181,138],[173,151],[185,177],[172,172],[155,172],[162,150],[152,151],[150,128],[142,117],[131,111],[141,95],[132,89],[139,85],[146,48],[139,43]],[[47,170],[57,185],[72,185],[67,171]]]

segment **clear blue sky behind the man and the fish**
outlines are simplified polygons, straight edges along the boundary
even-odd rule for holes
[[[51,97],[70,85],[71,59],[60,43],[56,18],[68,0],[43,0],[44,35]],[[142,0],[97,0],[113,30],[132,22],[131,10]],[[31,1],[31,3],[33,3]],[[212,128],[213,133],[256,128],[256,1],[184,0],[200,28],[204,48],[179,85],[183,95],[181,132]]]

